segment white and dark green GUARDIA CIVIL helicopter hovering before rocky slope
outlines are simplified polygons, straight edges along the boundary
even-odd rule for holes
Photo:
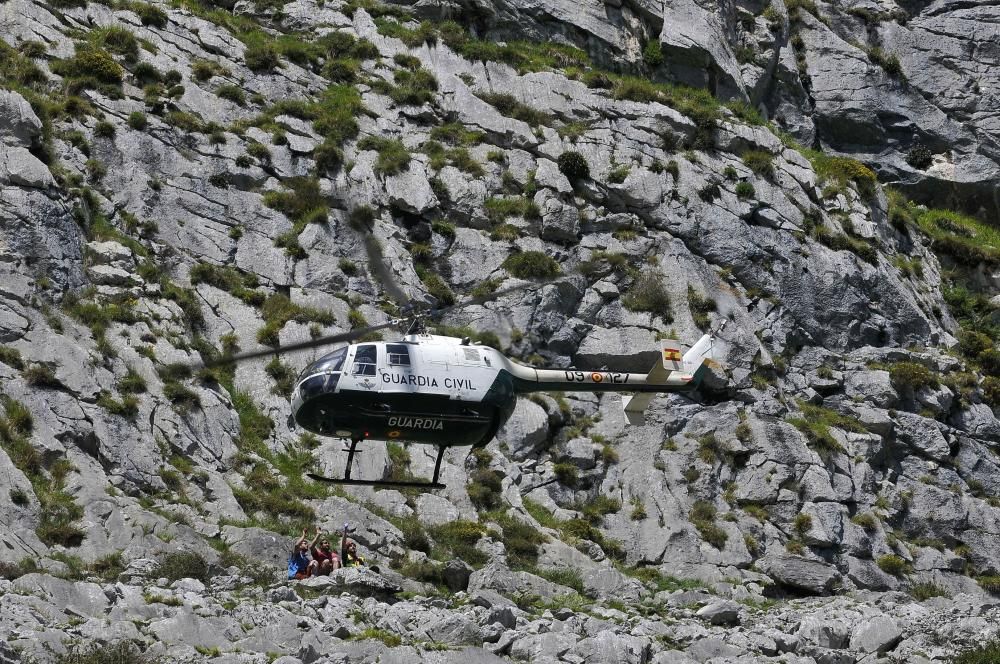
[[[438,318],[519,290],[518,286],[463,304],[397,318],[282,346],[243,353],[226,361],[292,352],[348,342],[312,362],[296,380],[291,418],[320,436],[350,441],[342,477],[310,473],[316,481],[372,487],[443,489],[438,481],[449,447],[486,445],[514,412],[517,398],[531,392],[631,392],[623,398],[625,415],[641,424],[655,394],[695,389],[709,367],[722,325],[681,353],[677,340],[659,343],[658,361],[648,373],[615,370],[538,369],[508,358],[490,346],[424,331],[425,318]],[[395,341],[363,341],[373,332],[409,321]],[[370,480],[351,477],[358,446],[367,440],[400,441],[437,446],[434,474],[424,480]]]

